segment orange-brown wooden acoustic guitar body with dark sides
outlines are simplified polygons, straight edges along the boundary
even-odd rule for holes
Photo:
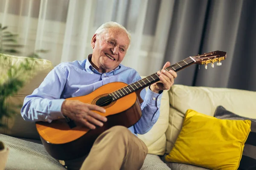
[[[112,82],[103,85],[88,95],[72,97],[67,100],[79,100],[84,103],[96,104],[97,101],[102,99],[102,96],[126,85],[123,82]],[[95,111],[102,116],[106,116],[108,121],[103,122],[102,127],[96,127],[94,130],[90,130],[78,122],[75,122],[76,126],[71,128],[65,119],[53,120],[51,123],[36,122],[36,128],[45,149],[52,157],[59,160],[76,159],[89,153],[93,142],[105,130],[116,125],[125,127],[134,125],[142,115],[138,97],[133,92],[103,106],[106,113]]]

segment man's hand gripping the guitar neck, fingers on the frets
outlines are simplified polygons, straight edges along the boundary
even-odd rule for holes
[[[175,71],[166,71],[164,68],[169,67],[170,62],[166,62],[163,66],[162,71],[157,71],[157,75],[159,76],[160,81],[155,82],[150,85],[151,91],[155,93],[159,93],[161,90],[169,90],[174,83],[174,79],[177,77],[177,73]]]

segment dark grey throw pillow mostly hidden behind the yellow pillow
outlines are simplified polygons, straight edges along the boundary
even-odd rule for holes
[[[255,170],[256,169],[256,119],[238,116],[235,113],[227,111],[224,107],[218,106],[214,113],[214,117],[219,119],[235,119],[251,121],[251,132],[244,144],[244,150],[239,165],[239,170]]]

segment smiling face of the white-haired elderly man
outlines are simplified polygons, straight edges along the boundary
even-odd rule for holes
[[[100,73],[113,70],[124,59],[129,43],[125,30],[119,27],[107,28],[106,33],[94,34],[91,64]]]

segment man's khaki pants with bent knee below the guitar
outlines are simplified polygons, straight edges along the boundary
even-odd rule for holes
[[[130,130],[114,126],[96,139],[88,155],[64,162],[69,170],[140,170],[147,153],[144,142]]]

